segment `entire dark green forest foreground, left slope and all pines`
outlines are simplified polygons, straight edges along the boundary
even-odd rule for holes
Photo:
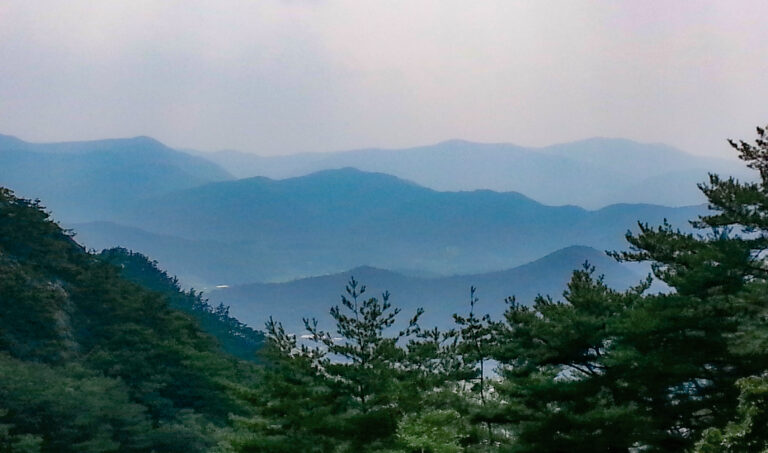
[[[309,338],[265,337],[146,257],[87,253],[0,192],[0,451],[766,452],[768,134],[731,143],[691,234],[640,225],[609,288],[420,324],[352,279]],[[258,357],[257,357],[258,353]]]

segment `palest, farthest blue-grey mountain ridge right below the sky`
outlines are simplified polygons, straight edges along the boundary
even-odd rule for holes
[[[704,203],[696,183],[707,172],[749,177],[735,161],[663,144],[593,138],[543,148],[451,140],[408,149],[363,149],[265,157],[237,151],[199,153],[237,177],[287,178],[355,167],[436,190],[515,191],[546,204],[598,208],[613,203]]]

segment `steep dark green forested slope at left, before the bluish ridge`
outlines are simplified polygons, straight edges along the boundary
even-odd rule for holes
[[[158,289],[122,278],[37,203],[0,188],[0,425],[11,439],[61,452],[216,444],[246,410],[228,385],[252,385],[255,370],[201,330],[195,307],[173,309],[172,289]],[[184,298],[177,290],[173,302]]]

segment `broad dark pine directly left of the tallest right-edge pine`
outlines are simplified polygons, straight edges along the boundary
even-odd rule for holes
[[[513,433],[510,451],[626,451],[648,422],[611,354],[613,323],[646,286],[618,293],[593,271],[574,273],[564,302],[510,301],[496,327],[495,388],[508,402],[497,421]]]

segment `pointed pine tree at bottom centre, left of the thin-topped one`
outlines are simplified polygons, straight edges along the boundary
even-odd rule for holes
[[[399,398],[411,376],[400,364],[407,357],[402,342],[417,326],[421,310],[405,329],[392,331],[400,309],[392,307],[389,293],[378,299],[365,298],[365,292],[365,285],[350,279],[341,306],[330,311],[335,332],[321,330],[317,320],[305,320],[319,345],[317,354],[322,354],[318,367],[339,395],[339,434],[350,451],[392,445],[405,407],[418,404]]]

